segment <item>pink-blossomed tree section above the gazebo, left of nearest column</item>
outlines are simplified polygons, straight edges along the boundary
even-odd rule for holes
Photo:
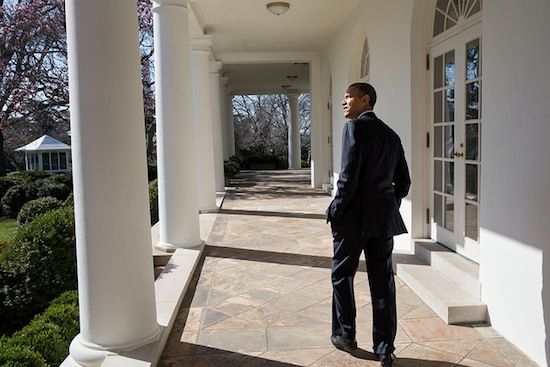
[[[68,120],[68,77],[64,2],[0,0],[0,5],[0,176],[3,176],[4,134],[10,125],[27,122],[29,128],[18,129],[17,138],[29,140],[33,129],[46,133],[57,123]]]

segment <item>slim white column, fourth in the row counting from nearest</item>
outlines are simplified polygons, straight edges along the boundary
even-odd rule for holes
[[[223,138],[222,114],[220,98],[220,70],[221,62],[210,63],[210,95],[212,96],[212,127],[214,133],[214,172],[216,177],[216,192],[225,191],[223,173]]]

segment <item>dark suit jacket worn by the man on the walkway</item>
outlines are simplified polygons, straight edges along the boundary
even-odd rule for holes
[[[327,221],[345,218],[349,208],[359,206],[364,236],[406,233],[399,206],[410,185],[401,139],[374,112],[362,113],[344,126],[338,190],[327,209]]]

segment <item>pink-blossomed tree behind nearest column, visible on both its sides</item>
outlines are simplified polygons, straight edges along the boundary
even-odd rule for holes
[[[151,2],[136,0],[145,126],[154,122]],[[0,0],[0,176],[14,148],[49,134],[69,143],[69,90],[63,0]],[[19,157],[20,159],[20,157]]]

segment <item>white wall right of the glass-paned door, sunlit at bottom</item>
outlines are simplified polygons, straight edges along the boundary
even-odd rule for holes
[[[483,10],[482,297],[493,326],[541,366],[550,331],[550,2]]]

